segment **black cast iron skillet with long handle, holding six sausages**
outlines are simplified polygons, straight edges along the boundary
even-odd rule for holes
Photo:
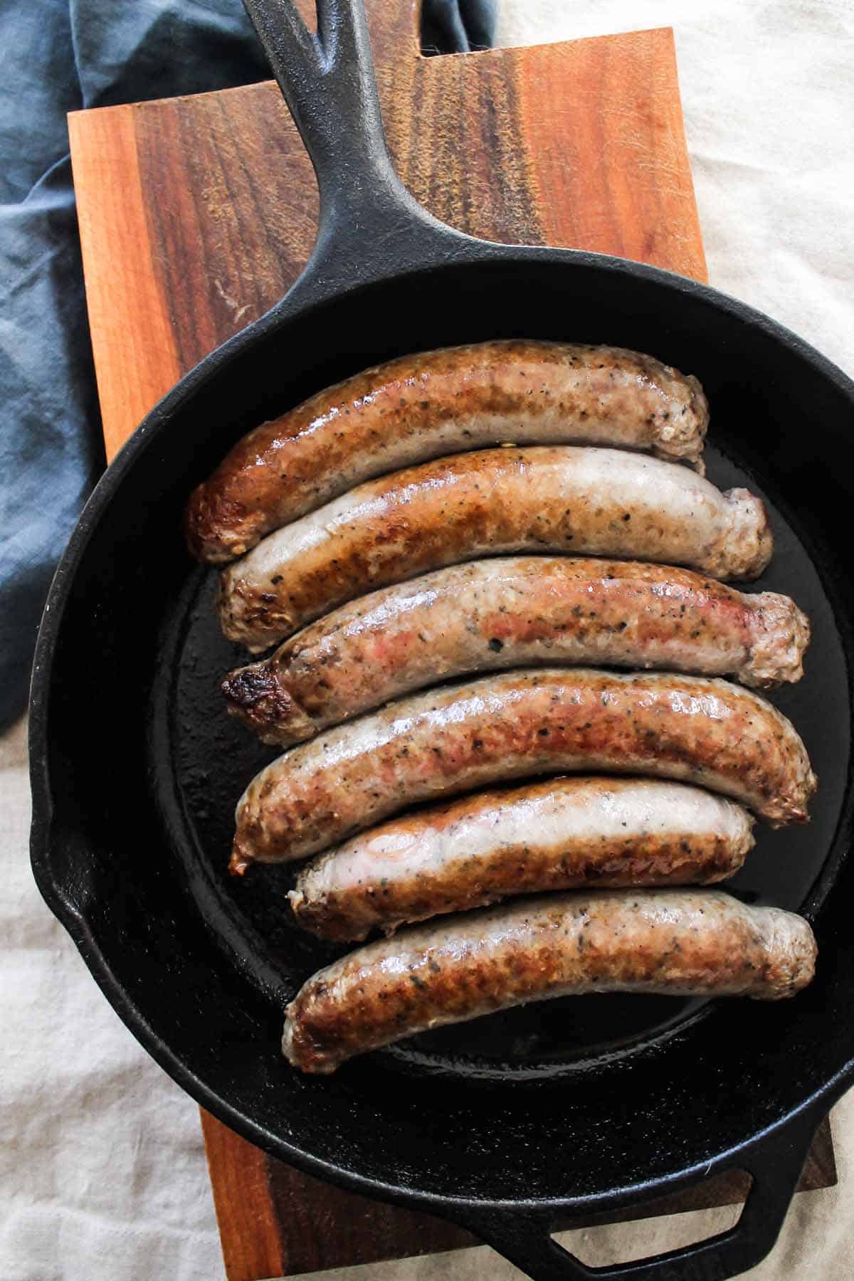
[[[712,290],[636,263],[467,238],[403,190],[385,151],[360,0],[247,0],[318,172],[311,261],[286,298],[146,418],[88,502],[36,655],[32,860],[113,1006],[239,1134],[302,1170],[420,1207],[538,1281],[731,1277],[769,1250],[816,1126],[854,1073],[849,740],[854,384]],[[225,875],[232,808],[269,756],[223,712],[241,660],[214,574],[187,557],[192,485],[250,427],[402,352],[498,336],[609,342],[699,375],[712,479],[762,492],[814,640],[777,703],[821,778],[813,821],[762,833],[734,889],[802,910],[819,943],[795,1000],[599,997],[416,1038],[332,1079],[279,1054],[282,1008],[334,951],[288,925],[287,871]],[[85,1035],[85,1029],[81,1029]],[[709,1173],[754,1176],[739,1225],[589,1269],[549,1231]]]

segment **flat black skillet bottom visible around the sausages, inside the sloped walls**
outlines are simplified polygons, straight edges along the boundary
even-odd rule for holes
[[[712,437],[720,445],[718,418],[712,404]],[[732,425],[737,432],[740,424]],[[752,589],[794,596],[812,623],[803,680],[775,690],[771,699],[796,725],[818,774],[813,819],[777,831],[757,822],[757,845],[726,886],[749,903],[799,911],[827,857],[845,793],[850,724],[837,697],[845,685],[845,658],[809,553],[772,496],[720,448],[707,447],[705,461],[714,484],[746,485],[768,503],[775,556]],[[252,867],[242,879],[225,871],[234,804],[280,749],[257,743],[225,712],[219,681],[251,656],[220,632],[216,579],[210,569],[191,574],[166,611],[161,657],[166,679],[155,687],[151,716],[168,731],[165,744],[160,734],[151,739],[150,767],[200,911],[223,945],[237,953],[245,972],[283,1007],[303,979],[353,944],[324,943],[293,924],[286,895],[301,863]],[[590,1066],[602,1056],[631,1053],[699,1017],[705,1006],[707,1000],[672,997],[565,997],[423,1034],[378,1052],[375,1061],[405,1071],[539,1077]]]

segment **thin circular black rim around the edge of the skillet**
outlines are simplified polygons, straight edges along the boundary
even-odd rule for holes
[[[522,1199],[475,1202],[458,1195],[439,1196],[428,1190],[385,1184],[370,1176],[355,1173],[282,1140],[270,1130],[264,1130],[250,1117],[245,1116],[236,1106],[210,1089],[196,1072],[186,1066],[177,1052],[172,1050],[159,1034],[151,1029],[145,1012],[128,997],[124,986],[115,977],[110,961],[95,942],[85,916],[67,898],[61,885],[54,876],[51,866],[54,792],[49,763],[50,696],[52,689],[54,657],[63,630],[65,606],[73,592],[76,574],[93,530],[109,510],[115,497],[115,491],[120,487],[122,480],[133,468],[137,459],[155,442],[161,441],[163,433],[169,428],[174,415],[210,379],[227,370],[229,361],[237,359],[254,342],[261,341],[268,334],[275,332],[277,328],[298,323],[314,309],[334,305],[344,297],[356,296],[359,292],[376,284],[391,283],[392,281],[399,283],[407,277],[417,278],[424,272],[435,272],[443,268],[476,268],[489,264],[524,265],[525,263],[536,261],[561,266],[577,265],[609,274],[616,273],[629,281],[643,279],[665,287],[668,292],[675,291],[688,295],[722,313],[727,320],[737,320],[759,329],[782,346],[784,350],[807,361],[822,379],[832,384],[851,402],[854,411],[854,380],[796,333],[749,304],[711,286],[680,277],[662,268],[634,263],[627,259],[580,250],[498,245],[488,241],[457,237],[453,249],[438,261],[425,261],[421,265],[410,264],[403,270],[380,270],[367,279],[359,279],[350,288],[334,288],[326,295],[324,295],[321,284],[315,284],[315,282],[310,284],[307,277],[303,277],[286,295],[282,302],[215,348],[200,364],[184,374],[142,419],[134,433],[106,469],[81,514],[51,582],[38,629],[31,681],[28,744],[29,778],[33,798],[31,826],[31,863],[33,875],[47,906],[72,936],[96,983],[136,1039],[159,1066],[197,1103],[271,1155],[315,1177],[325,1179],[352,1191],[380,1196],[384,1200],[397,1204],[419,1205],[439,1216],[455,1218],[456,1221],[461,1221],[461,1217],[465,1217],[465,1212],[471,1211],[475,1204],[481,1208],[489,1207],[542,1216],[544,1213],[566,1213],[567,1211],[589,1211],[594,1205],[603,1209],[629,1202],[639,1202],[668,1191],[676,1191],[685,1185],[695,1182],[699,1177],[709,1172],[708,1162],[703,1161],[690,1167],[681,1167],[670,1175],[657,1176],[652,1182],[636,1182],[625,1187],[612,1187],[604,1196],[595,1194],[575,1198],[542,1198],[530,1202]],[[302,283],[303,281],[306,282],[305,284]],[[832,871],[834,877],[836,870]],[[734,1164],[737,1164],[740,1154],[761,1146],[768,1140],[771,1134],[787,1127],[796,1117],[810,1113],[814,1114],[817,1123],[821,1113],[844,1093],[851,1081],[854,1081],[854,1056],[835,1075],[803,1099],[800,1106],[789,1108],[777,1121],[766,1126],[764,1130],[752,1135],[744,1143],[720,1153],[714,1158],[713,1172],[727,1167],[732,1168]]]

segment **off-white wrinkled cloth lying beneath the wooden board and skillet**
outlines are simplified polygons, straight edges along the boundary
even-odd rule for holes
[[[849,0],[501,0],[499,44],[667,24],[676,28],[712,283],[854,373]],[[0,743],[0,1281],[216,1281],[224,1272],[196,1106],[124,1029],[44,907],[27,828],[18,726]],[[850,1281],[854,1093],[834,1129],[839,1187],[795,1199],[753,1281]],[[606,1263],[707,1236],[732,1218],[704,1211],[588,1230],[570,1244]],[[478,1249],[334,1276],[520,1273]]]

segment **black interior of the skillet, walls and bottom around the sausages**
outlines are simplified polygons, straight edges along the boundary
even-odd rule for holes
[[[274,752],[225,715],[218,681],[245,655],[219,634],[214,575],[186,555],[181,510],[239,434],[320,387],[393,355],[502,336],[617,343],[697,374],[712,407],[711,479],[768,502],[776,555],[757,589],[790,593],[813,624],[804,680],[772,697],[804,737],[819,792],[809,826],[758,829],[732,889],[807,911],[827,959],[794,1002],[558,1000],[305,1079],[279,1057],[282,1007],[337,952],[291,926],[287,869],[254,869],[241,883],[225,872],[234,802]],[[840,913],[850,894],[854,484],[832,465],[850,429],[849,384],[708,291],[551,251],[362,290],[220,368],[111,480],[64,605],[50,685],[55,811],[42,876],[69,927],[105,958],[125,1017],[243,1132],[378,1185],[494,1199],[603,1194],[617,1179],[631,1186],[711,1159],[772,1123],[845,1057],[819,1029],[846,1008],[851,959],[846,970]]]

